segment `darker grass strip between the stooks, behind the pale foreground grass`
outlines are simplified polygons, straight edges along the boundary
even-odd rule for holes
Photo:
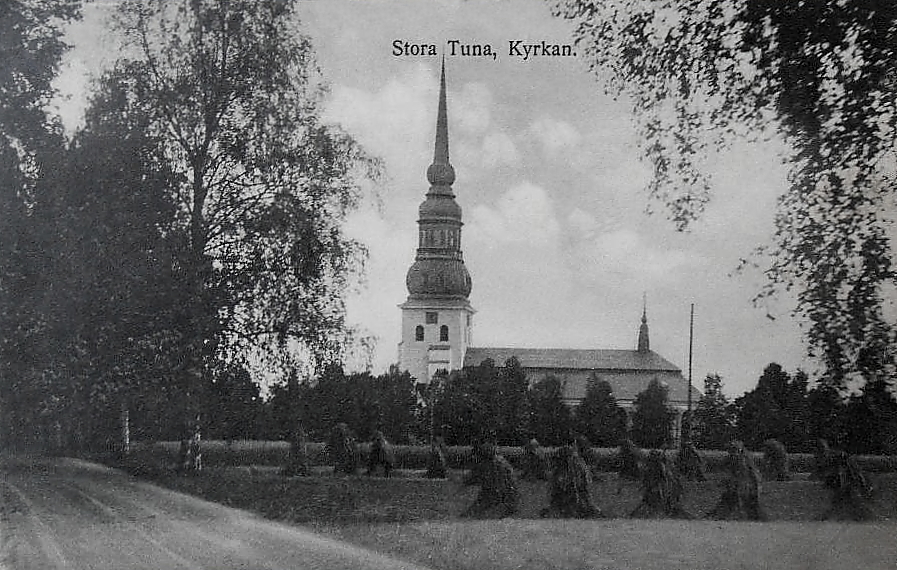
[[[359,523],[447,521],[458,518],[473,502],[477,487],[461,484],[463,473],[452,470],[447,480],[422,478],[420,472],[400,470],[392,479],[333,476],[317,467],[310,477],[282,477],[277,468],[217,467],[201,474],[182,476],[156,473],[156,482],[211,501],[252,510],[265,517],[319,526]],[[870,476],[877,491],[873,511],[882,520],[897,521],[897,474]],[[721,477],[685,484],[685,509],[700,518],[719,500]],[[548,484],[521,481],[521,505],[517,518],[539,517],[547,504]],[[625,518],[639,504],[641,489],[627,483],[618,493],[618,479],[605,474],[593,484],[595,503],[609,518]],[[769,520],[814,521],[829,505],[830,491],[818,481],[801,477],[793,481],[767,481],[761,504]]]

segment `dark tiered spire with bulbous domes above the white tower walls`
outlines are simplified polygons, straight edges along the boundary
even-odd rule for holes
[[[439,81],[436,143],[433,163],[427,168],[430,190],[418,209],[418,246],[405,284],[411,298],[467,299],[471,280],[461,253],[461,206],[455,202],[452,184],[455,169],[449,162],[448,106],[445,59]]]

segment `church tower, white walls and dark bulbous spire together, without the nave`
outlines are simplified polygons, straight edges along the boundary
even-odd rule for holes
[[[452,184],[449,162],[448,111],[445,100],[445,60],[439,83],[436,145],[427,168],[430,190],[418,209],[418,245],[405,285],[399,369],[418,382],[429,382],[439,370],[457,370],[470,346],[470,274],[461,254],[461,207]]]

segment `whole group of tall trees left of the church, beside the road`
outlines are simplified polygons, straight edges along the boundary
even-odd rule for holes
[[[343,221],[379,166],[321,122],[295,0],[118,3],[67,137],[46,109],[80,9],[0,7],[0,434],[95,440],[123,412],[182,436],[246,369],[340,360]]]

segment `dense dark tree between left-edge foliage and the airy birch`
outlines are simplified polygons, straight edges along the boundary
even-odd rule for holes
[[[129,112],[125,98],[110,87],[93,99],[59,176],[45,176],[46,191],[35,200],[52,236],[43,290],[54,310],[47,322],[69,371],[67,386],[54,392],[76,391],[69,410],[75,416],[88,406],[139,400],[178,409],[176,420],[164,419],[180,426],[183,398],[158,401],[181,388],[162,390],[160,383],[173,384],[187,332],[168,195],[174,176],[143,130],[146,117]],[[109,435],[93,431],[93,439]]]

